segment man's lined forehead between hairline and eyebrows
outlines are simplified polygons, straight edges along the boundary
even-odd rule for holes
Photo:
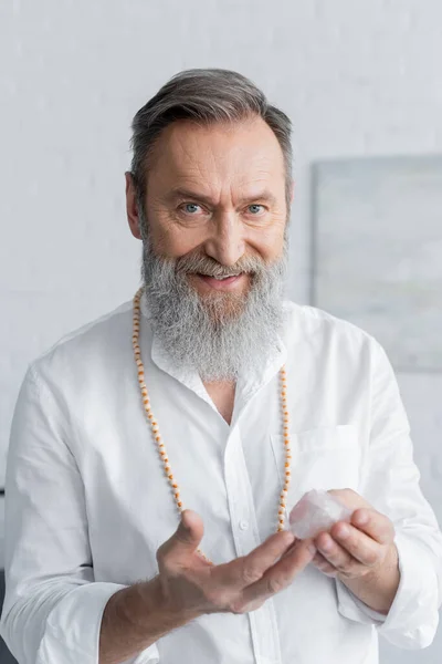
[[[201,126],[178,121],[161,133],[152,152],[148,180],[207,181],[211,185],[284,178],[277,138],[261,118]]]

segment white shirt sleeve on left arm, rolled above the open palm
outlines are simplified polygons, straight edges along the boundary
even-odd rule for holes
[[[30,366],[12,418],[0,633],[20,664],[98,664],[102,615],[126,585],[95,582],[66,414]],[[159,662],[154,644],[125,664]]]

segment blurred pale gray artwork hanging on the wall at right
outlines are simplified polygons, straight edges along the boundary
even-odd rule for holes
[[[312,304],[441,371],[442,156],[315,164],[312,228]]]

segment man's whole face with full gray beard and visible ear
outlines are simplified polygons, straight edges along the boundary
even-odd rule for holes
[[[170,125],[137,204],[149,319],[177,366],[203,381],[260,371],[277,344],[286,266],[282,151],[261,120],[230,126]]]

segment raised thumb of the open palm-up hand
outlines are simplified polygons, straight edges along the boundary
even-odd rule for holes
[[[183,510],[177,530],[159,547],[157,558],[169,564],[186,564],[198,549],[203,533],[201,517],[190,509]]]

